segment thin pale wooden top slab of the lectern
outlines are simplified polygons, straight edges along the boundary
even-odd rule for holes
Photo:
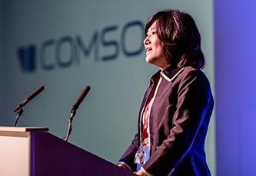
[[[0,132],[48,132],[47,127],[0,126]]]

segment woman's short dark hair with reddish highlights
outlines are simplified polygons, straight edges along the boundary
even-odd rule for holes
[[[158,11],[148,20],[145,35],[155,21],[156,34],[163,44],[168,64],[199,69],[204,67],[201,36],[191,15],[173,9]]]

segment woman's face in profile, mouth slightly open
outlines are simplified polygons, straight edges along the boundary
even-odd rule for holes
[[[165,60],[163,45],[156,34],[155,22],[151,25],[150,28],[148,28],[148,32],[143,43],[147,51],[145,60],[149,64],[154,64],[161,70],[165,70],[169,64]]]

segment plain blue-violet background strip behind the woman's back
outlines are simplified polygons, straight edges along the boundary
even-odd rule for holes
[[[214,1],[217,175],[256,175],[255,7]]]

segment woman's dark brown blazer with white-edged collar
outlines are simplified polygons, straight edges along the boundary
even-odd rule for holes
[[[214,100],[207,77],[194,67],[168,67],[150,80],[139,112],[138,133],[120,161],[135,171],[141,113],[152,87],[160,80],[149,117],[151,157],[142,167],[151,175],[211,175],[204,141]]]

